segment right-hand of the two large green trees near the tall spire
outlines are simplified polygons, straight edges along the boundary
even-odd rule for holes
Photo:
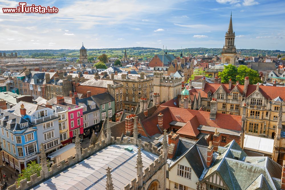
[[[236,80],[239,81],[239,84],[244,84],[246,76],[249,77],[249,84],[256,84],[258,82],[261,82],[258,71],[248,68],[245,65],[239,66],[237,68],[236,77]]]

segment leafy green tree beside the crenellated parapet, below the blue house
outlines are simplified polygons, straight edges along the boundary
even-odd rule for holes
[[[28,163],[28,167],[22,170],[22,173],[19,175],[18,179],[16,179],[17,183],[20,184],[20,181],[27,178],[28,181],[30,181],[30,176],[33,174],[37,174],[38,177],[40,176],[40,171],[42,170],[42,167],[40,164],[37,164],[36,161],[32,161],[31,163]]]

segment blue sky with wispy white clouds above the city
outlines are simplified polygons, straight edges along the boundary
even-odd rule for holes
[[[18,3],[0,0],[0,50],[222,48],[231,11],[237,49],[285,50],[284,0],[34,0],[59,11],[3,14]]]

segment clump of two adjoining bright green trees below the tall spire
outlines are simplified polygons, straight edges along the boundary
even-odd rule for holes
[[[246,76],[249,77],[249,84],[261,82],[258,71],[248,68],[245,65],[239,67],[232,64],[226,65],[223,72],[219,72],[218,75],[221,77],[222,83],[228,83],[231,79],[232,82],[239,81],[239,84],[244,84]]]

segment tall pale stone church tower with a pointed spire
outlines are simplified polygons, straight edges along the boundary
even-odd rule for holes
[[[233,31],[233,23],[231,19],[229,23],[229,29],[225,35],[225,45],[223,47],[221,54],[222,54],[221,63],[228,63],[235,65],[237,51],[235,48],[235,32]]]

